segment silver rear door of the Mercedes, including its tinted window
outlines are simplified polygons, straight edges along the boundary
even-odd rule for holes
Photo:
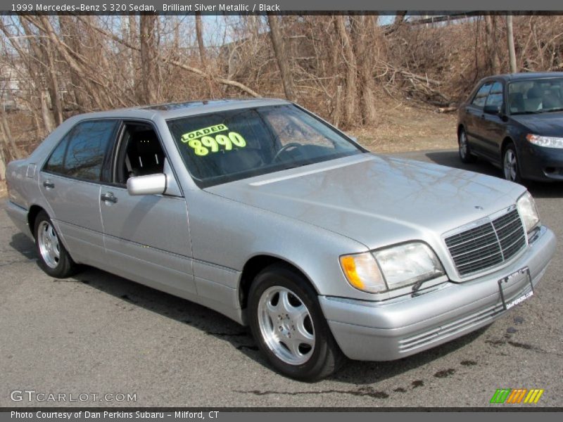
[[[103,163],[113,144],[117,120],[86,120],[58,143],[39,173],[41,189],[63,243],[73,259],[105,262],[100,215]]]

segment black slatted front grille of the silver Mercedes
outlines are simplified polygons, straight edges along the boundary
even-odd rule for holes
[[[449,236],[450,250],[457,272],[467,276],[510,260],[526,245],[526,234],[517,210]]]

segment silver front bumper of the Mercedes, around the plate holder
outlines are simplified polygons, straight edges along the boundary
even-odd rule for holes
[[[529,267],[535,286],[555,253],[555,236],[545,226],[510,267],[466,281],[446,282],[414,297],[368,302],[320,296],[329,327],[350,359],[388,361],[441,345],[505,314],[498,280]],[[506,302],[531,290],[528,276],[502,284]]]

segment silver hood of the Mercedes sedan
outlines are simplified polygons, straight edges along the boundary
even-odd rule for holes
[[[451,167],[361,154],[205,190],[373,249],[439,238],[514,204],[525,188]]]

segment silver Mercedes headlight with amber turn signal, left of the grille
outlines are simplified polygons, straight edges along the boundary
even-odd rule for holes
[[[340,258],[348,282],[360,290],[380,293],[442,276],[442,264],[424,243],[345,255]]]

